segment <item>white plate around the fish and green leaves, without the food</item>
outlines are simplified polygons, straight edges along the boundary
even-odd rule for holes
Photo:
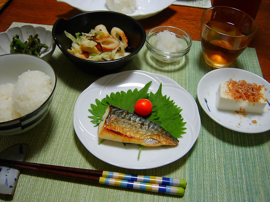
[[[143,147],[140,159],[138,160],[139,146],[128,144],[124,146],[122,142],[105,140],[100,145],[102,139],[98,138],[98,127],[94,127],[88,116],[92,114],[88,111],[90,104],[96,104],[95,99],[102,100],[111,92],[127,92],[137,88],[142,89],[146,83],[152,81],[149,92],[157,92],[162,83],[162,95],[170,96],[181,112],[184,127],[187,127],[185,134],[179,138],[177,146]],[[163,166],[183,157],[192,148],[199,135],[200,116],[198,106],[193,97],[172,79],[158,74],[152,74],[140,70],[120,72],[104,76],[79,95],[74,108],[73,125],[75,132],[85,146],[85,148],[100,160],[111,165],[130,169],[148,169]]]

